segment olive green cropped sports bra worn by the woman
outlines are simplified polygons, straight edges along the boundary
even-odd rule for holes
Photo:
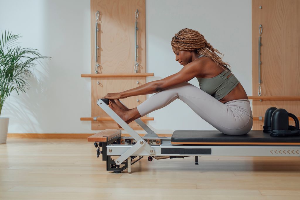
[[[200,55],[198,58],[202,56],[203,55]],[[226,65],[223,66],[225,67]],[[226,69],[228,69],[227,66]],[[230,70],[224,70],[221,74],[212,78],[196,78],[199,81],[200,89],[213,96],[217,100],[220,100],[239,83],[233,74],[231,76],[229,76],[229,74],[232,74]],[[227,76],[229,77],[227,78]]]

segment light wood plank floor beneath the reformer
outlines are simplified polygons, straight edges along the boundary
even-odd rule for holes
[[[106,171],[83,139],[0,144],[0,199],[300,199],[299,157],[144,157]]]

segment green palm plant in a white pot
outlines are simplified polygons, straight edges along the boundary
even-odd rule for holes
[[[16,91],[25,92],[29,88],[28,77],[30,68],[36,65],[40,59],[50,59],[42,56],[37,49],[21,48],[17,46],[17,39],[21,36],[11,32],[1,31],[0,38],[0,144],[6,143],[8,131],[8,117],[1,117],[4,101],[10,97],[10,93]]]

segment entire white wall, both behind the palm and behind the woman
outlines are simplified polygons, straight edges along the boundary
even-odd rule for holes
[[[147,71],[157,80],[178,72],[170,42],[182,28],[199,31],[224,54],[247,95],[252,95],[251,0],[146,0]],[[50,61],[33,70],[31,89],[4,103],[9,133],[93,133],[90,73],[90,1],[0,0],[0,30],[20,34],[22,47],[38,49]],[[196,79],[190,83],[199,87]],[[151,95],[148,95],[151,96]],[[148,115],[158,133],[216,130],[176,100]]]

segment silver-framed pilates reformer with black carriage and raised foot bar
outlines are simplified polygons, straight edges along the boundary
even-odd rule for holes
[[[120,101],[121,102],[121,101]],[[300,157],[300,137],[272,137],[260,130],[246,135],[225,135],[219,131],[176,130],[172,137],[159,137],[142,120],[136,119],[147,133],[141,137],[109,106],[108,99],[98,99],[97,104],[124,128],[131,137],[121,137],[120,129],[106,129],[88,137],[102,154],[107,171],[121,173],[126,168],[149,156],[148,160],[184,158],[195,156],[295,156]],[[121,102],[122,103],[122,102]],[[102,147],[102,150],[100,150]],[[111,156],[119,156],[116,160]]]

